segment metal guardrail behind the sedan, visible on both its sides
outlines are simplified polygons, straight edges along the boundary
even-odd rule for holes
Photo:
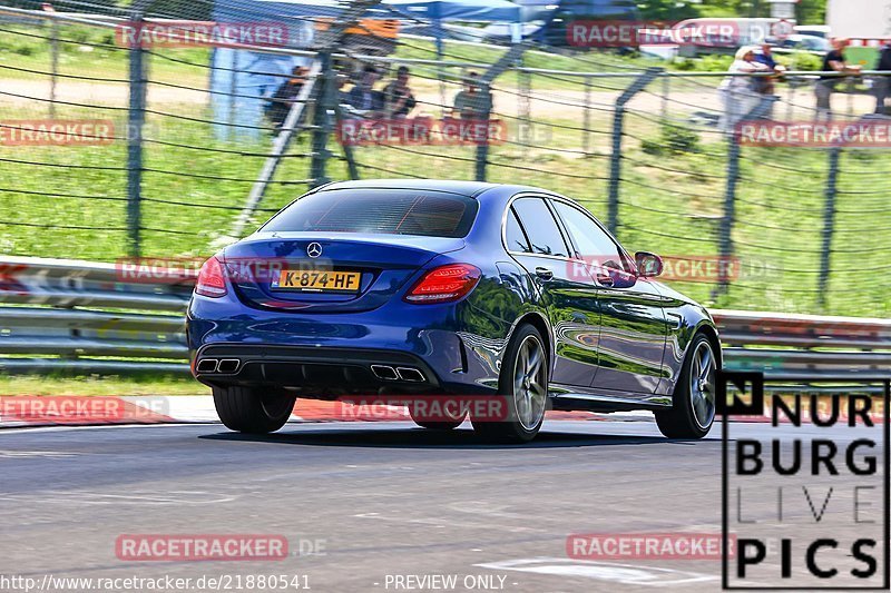
[[[0,257],[0,372],[185,374],[192,274]],[[789,380],[891,368],[891,320],[714,310],[726,366]]]

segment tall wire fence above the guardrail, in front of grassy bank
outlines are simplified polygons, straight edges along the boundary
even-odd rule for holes
[[[481,31],[373,0],[0,8],[0,253],[204,256],[329,180],[480,179],[579,200],[708,304],[889,313],[888,151],[740,132],[829,117],[821,85],[874,126],[879,73],[765,91]]]

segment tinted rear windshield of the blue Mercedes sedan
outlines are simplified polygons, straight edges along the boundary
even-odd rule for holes
[[[263,230],[464,237],[476,216],[477,200],[467,196],[408,189],[332,189],[298,199]]]

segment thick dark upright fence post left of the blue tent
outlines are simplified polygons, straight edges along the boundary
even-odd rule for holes
[[[143,127],[146,119],[146,63],[139,30],[143,11],[135,11],[130,26],[137,29],[135,45],[129,52],[130,99],[127,111],[127,230],[130,257],[141,253],[143,201]]]

